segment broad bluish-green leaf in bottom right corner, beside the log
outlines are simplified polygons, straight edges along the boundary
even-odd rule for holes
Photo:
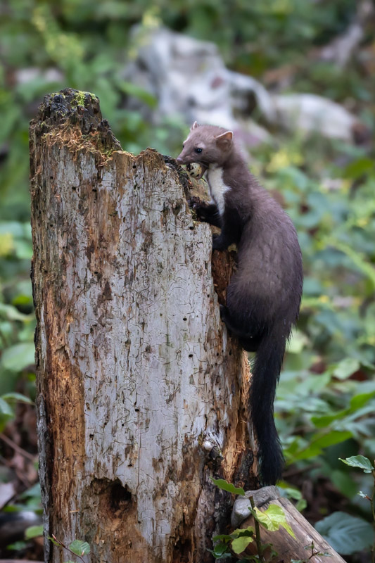
[[[368,549],[373,540],[371,524],[345,512],[333,512],[330,516],[319,520],[315,524],[315,529],[341,555],[350,555]]]

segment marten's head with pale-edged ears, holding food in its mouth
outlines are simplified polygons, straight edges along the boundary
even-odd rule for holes
[[[198,125],[195,121],[177,156],[179,164],[200,163],[203,176],[210,164],[223,165],[231,153],[233,133],[215,125]]]

